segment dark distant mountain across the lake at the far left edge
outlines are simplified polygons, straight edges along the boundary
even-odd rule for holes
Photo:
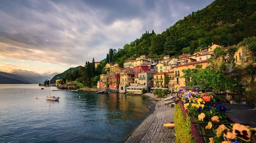
[[[32,83],[19,75],[8,74],[0,71],[0,84],[27,84]]]

